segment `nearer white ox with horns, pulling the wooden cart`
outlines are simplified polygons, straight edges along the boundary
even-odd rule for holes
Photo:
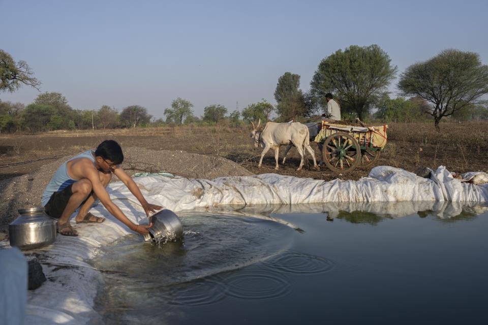
[[[319,170],[317,166],[317,161],[315,160],[315,153],[310,146],[310,134],[309,128],[299,122],[293,123],[275,123],[267,122],[264,126],[262,132],[258,131],[261,120],[259,120],[258,125],[255,126],[253,122],[253,131],[251,132],[251,138],[254,139],[254,148],[259,145],[264,147],[261,153],[261,159],[259,159],[258,167],[261,167],[263,163],[263,157],[268,152],[269,149],[273,148],[275,150],[275,160],[276,167],[278,169],[278,154],[280,151],[280,146],[294,145],[300,154],[300,166],[298,166],[297,171],[301,170],[303,167],[303,154],[304,150],[307,149],[312,158],[314,159],[314,167]],[[283,159],[284,163],[285,159]]]

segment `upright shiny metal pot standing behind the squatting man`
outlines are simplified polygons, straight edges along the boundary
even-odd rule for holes
[[[34,249],[52,244],[56,240],[56,221],[44,208],[18,210],[19,216],[9,224],[10,246]]]

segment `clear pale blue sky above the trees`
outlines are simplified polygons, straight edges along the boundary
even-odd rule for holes
[[[211,104],[275,104],[285,72],[308,90],[320,60],[350,45],[378,44],[399,73],[446,48],[488,64],[487,13],[486,0],[0,0],[0,48],[75,109],[138,104],[159,118],[181,97],[202,115]],[[23,86],[0,99],[38,94]]]

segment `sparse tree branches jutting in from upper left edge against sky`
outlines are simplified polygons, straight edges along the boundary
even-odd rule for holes
[[[33,77],[34,73],[27,62],[15,62],[12,56],[0,49],[0,92],[14,92],[22,84],[39,90],[41,82]]]

